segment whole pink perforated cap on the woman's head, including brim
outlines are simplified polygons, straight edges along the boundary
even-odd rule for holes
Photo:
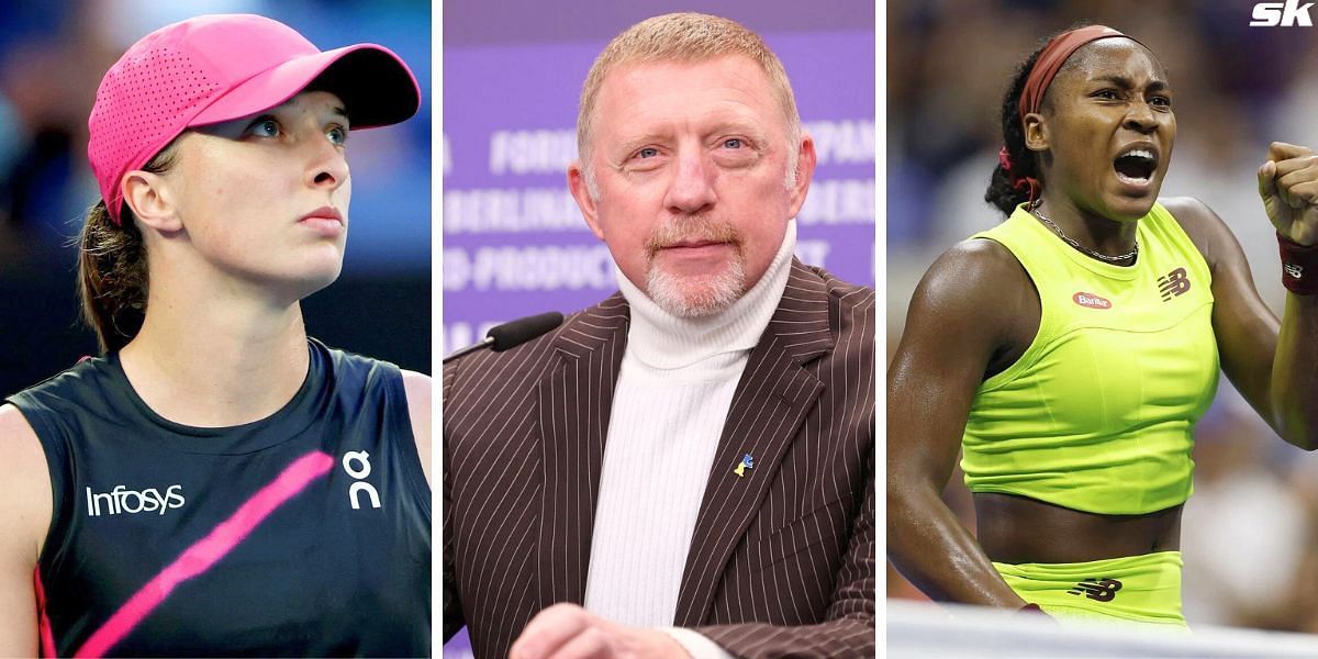
[[[374,43],[322,53],[254,14],[199,16],[142,37],[105,72],[87,120],[87,158],[111,219],[120,223],[124,175],[185,129],[273,108],[312,82],[343,99],[352,130],[397,124],[420,107],[411,70]]]

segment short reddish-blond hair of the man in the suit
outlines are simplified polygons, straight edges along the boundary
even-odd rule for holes
[[[593,178],[590,137],[594,128],[594,105],[604,79],[627,65],[652,62],[702,62],[724,55],[745,55],[759,65],[778,96],[779,109],[787,120],[789,163],[795,163],[796,142],[801,136],[801,116],[796,111],[792,83],[783,62],[759,34],[742,24],[705,13],[668,13],[646,18],[618,34],[605,46],[590,66],[581,87],[581,109],[577,112],[577,154],[588,182]],[[795,170],[795,166],[792,167]],[[789,174],[795,174],[791,171]]]

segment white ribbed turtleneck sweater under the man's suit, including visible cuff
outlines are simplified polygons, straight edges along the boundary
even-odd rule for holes
[[[600,473],[585,588],[590,612],[639,627],[672,625],[733,391],[783,298],[795,249],[796,223],[788,221],[759,282],[709,318],[676,318],[617,272],[631,326]],[[699,634],[676,631],[693,655],[722,654]]]

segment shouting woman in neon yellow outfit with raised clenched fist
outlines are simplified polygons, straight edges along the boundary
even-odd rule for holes
[[[1181,507],[1219,368],[1318,444],[1318,158],[1275,142],[1259,169],[1278,322],[1223,221],[1159,199],[1172,99],[1098,25],[1049,40],[1004,99],[986,200],[1007,220],[931,266],[888,370],[888,556],[936,600],[1184,626]],[[958,448],[978,538],[940,498]]]

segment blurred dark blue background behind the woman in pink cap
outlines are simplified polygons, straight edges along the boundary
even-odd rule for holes
[[[99,198],[87,115],[105,70],[146,33],[204,13],[258,13],[326,50],[381,43],[411,66],[420,112],[353,133],[352,232],[339,282],[303,302],[310,335],[430,372],[428,1],[0,1],[0,397],[96,352],[78,320],[78,235]]]

